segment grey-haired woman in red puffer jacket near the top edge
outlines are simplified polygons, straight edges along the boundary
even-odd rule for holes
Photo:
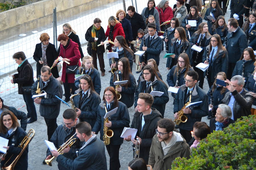
[[[156,6],[156,9],[159,12],[160,25],[166,21],[170,21],[173,18],[172,8],[169,7],[169,0],[161,0]],[[170,27],[170,25],[168,25],[168,27]],[[162,25],[161,31],[164,31],[165,29],[165,25]],[[163,33],[158,33],[158,35],[163,35]]]

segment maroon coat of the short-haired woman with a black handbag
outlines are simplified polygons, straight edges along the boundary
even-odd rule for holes
[[[80,65],[81,54],[78,48],[78,44],[70,39],[69,46],[64,49],[63,45],[60,44],[59,56],[70,59],[70,65]],[[61,81],[65,83],[67,63],[63,62]],[[68,83],[75,82],[75,74],[68,74]]]

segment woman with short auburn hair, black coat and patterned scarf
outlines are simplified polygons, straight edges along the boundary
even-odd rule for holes
[[[36,44],[36,49],[33,55],[33,58],[36,61],[36,77],[41,75],[41,68],[44,65],[51,67],[54,60],[58,57],[55,45],[49,43],[50,37],[48,33],[42,33],[39,39],[41,43]],[[59,77],[57,67],[52,68],[51,73],[55,78]]]

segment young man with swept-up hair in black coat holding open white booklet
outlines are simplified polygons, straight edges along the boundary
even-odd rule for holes
[[[135,139],[131,139],[131,135],[124,138],[126,141],[132,141],[135,145],[136,138],[140,142],[140,158],[148,163],[149,150],[152,143],[152,137],[156,134],[157,122],[162,118],[161,113],[151,108],[154,102],[152,95],[148,93],[140,93],[137,101],[137,112],[135,112],[131,128],[138,129]],[[133,146],[134,146],[133,145]]]

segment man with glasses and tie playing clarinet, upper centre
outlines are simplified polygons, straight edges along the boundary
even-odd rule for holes
[[[143,43],[145,39],[145,44]],[[142,39],[140,51],[146,51],[146,58],[144,60],[143,56],[140,56],[140,62],[142,66],[146,65],[148,59],[153,58],[156,60],[156,64],[159,65],[159,56],[162,51],[163,40],[156,33],[156,24],[148,24],[148,33]],[[144,46],[145,45],[145,46]]]

